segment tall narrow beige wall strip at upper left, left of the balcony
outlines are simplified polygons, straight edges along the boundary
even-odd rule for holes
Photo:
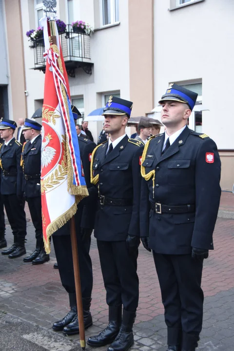
[[[17,121],[20,117],[27,117],[20,0],[5,0],[5,14],[12,100],[9,101],[12,105],[9,117]]]

